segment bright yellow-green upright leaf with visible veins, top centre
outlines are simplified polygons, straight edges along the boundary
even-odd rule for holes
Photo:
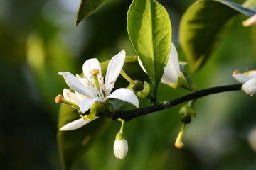
[[[135,52],[152,83],[154,97],[171,50],[171,21],[155,0],[134,0],[127,13],[127,30]]]

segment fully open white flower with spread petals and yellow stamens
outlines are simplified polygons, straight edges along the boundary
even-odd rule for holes
[[[139,107],[139,100],[134,92],[130,89],[119,88],[111,93],[114,88],[114,83],[122,70],[125,60],[125,51],[122,50],[119,54],[112,57],[107,67],[107,74],[105,81],[101,74],[100,62],[97,59],[86,60],[82,66],[84,76],[80,77],[78,74],[76,77],[69,72],[58,72],[62,75],[71,89],[75,93],[70,91],[63,91],[65,99],[78,104],[80,111],[85,113],[90,109],[95,102],[105,102],[109,98],[117,98],[128,103],[132,103],[137,108]],[[92,77],[92,73],[97,71],[96,80]],[[90,120],[89,120],[90,121]],[[60,128],[60,130],[74,130],[82,127],[88,123],[88,120],[80,118],[72,123]]]

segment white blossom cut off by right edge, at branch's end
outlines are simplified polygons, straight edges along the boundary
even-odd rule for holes
[[[249,94],[250,96],[256,94],[256,70],[251,70],[243,74],[240,74],[238,70],[235,70],[235,72],[233,72],[233,77],[242,83],[242,91],[244,91],[245,94]]]

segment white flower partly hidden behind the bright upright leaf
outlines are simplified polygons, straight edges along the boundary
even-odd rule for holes
[[[139,65],[142,67],[143,71],[146,72],[142,65],[142,61],[139,59]],[[163,84],[167,84],[173,88],[178,88],[181,85],[181,70],[178,62],[178,52],[174,43],[171,43],[171,51],[168,58],[166,67],[164,68],[164,74],[161,79]]]

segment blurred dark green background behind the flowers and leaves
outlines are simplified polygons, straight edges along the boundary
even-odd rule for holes
[[[103,62],[122,49],[134,55],[126,30],[131,2],[108,0],[75,26],[79,0],[0,1],[1,169],[61,169],[55,137],[60,105],[54,98],[67,85],[57,72],[80,73],[88,58]],[[193,1],[159,2],[169,12],[180,60],[186,61],[178,25]],[[233,18],[218,50],[190,74],[199,89],[236,84],[235,69],[256,69],[256,28],[244,28],[245,19]],[[188,91],[159,86],[159,101],[184,94]],[[120,126],[114,121],[74,169],[256,169],[255,102],[240,91],[199,99],[183,149],[174,147],[182,104],[131,120],[124,128],[129,152],[122,161],[112,151]]]

